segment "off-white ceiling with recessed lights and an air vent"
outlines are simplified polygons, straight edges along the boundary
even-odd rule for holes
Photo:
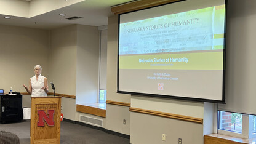
[[[8,0],[10,1],[10,0]],[[15,0],[12,0],[15,1]],[[21,0],[17,0],[21,1]],[[24,0],[26,1],[26,0]],[[36,1],[36,0],[33,0]],[[72,0],[63,0],[72,1]],[[52,30],[54,28],[71,25],[91,25],[103,26],[108,24],[108,17],[114,15],[111,12],[111,6],[116,6],[132,0],[86,0],[70,6],[62,7],[60,9],[52,10],[44,14],[36,15],[34,17],[17,17],[13,15],[4,15],[0,12],[0,25],[22,26],[28,28],[41,28]],[[31,1],[26,1],[31,2]],[[66,14],[61,17],[59,14]],[[4,17],[11,17],[5,19]],[[69,17],[82,17],[76,20],[67,20]]]

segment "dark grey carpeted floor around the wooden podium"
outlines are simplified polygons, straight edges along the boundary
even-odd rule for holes
[[[30,121],[0,123],[0,130],[12,132],[20,138],[20,144],[30,143]],[[108,134],[79,124],[62,121],[60,143],[63,144],[128,144],[129,139]]]

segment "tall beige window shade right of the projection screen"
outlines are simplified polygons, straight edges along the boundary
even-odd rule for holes
[[[218,110],[256,114],[256,1],[230,1],[226,22],[226,104]]]

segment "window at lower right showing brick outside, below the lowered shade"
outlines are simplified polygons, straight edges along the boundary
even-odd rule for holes
[[[218,134],[233,137],[256,137],[256,116],[218,111]]]

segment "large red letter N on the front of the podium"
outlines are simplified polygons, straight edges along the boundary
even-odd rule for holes
[[[44,127],[44,121],[48,126],[54,126],[54,110],[48,110],[48,114],[44,110],[38,110],[38,127]],[[48,116],[49,115],[49,116]]]

